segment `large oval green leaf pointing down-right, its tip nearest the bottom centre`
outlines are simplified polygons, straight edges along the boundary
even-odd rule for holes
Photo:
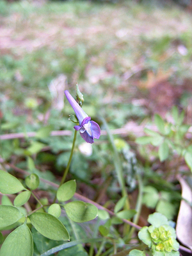
[[[56,241],[69,241],[68,231],[56,217],[45,212],[34,212],[29,216],[31,224],[40,234]]]

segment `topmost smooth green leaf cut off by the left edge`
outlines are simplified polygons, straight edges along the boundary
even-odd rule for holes
[[[22,183],[17,178],[0,170],[0,192],[2,194],[15,194],[23,189]]]

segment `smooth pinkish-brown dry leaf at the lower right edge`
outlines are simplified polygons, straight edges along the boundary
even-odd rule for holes
[[[192,191],[184,178],[180,176],[177,178],[182,187],[182,198],[186,200],[181,200],[180,202],[176,226],[177,238],[182,244],[192,250],[192,208],[189,205],[189,203],[192,203]]]

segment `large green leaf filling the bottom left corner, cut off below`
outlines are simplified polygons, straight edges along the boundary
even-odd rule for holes
[[[32,256],[33,238],[26,224],[16,228],[6,237],[0,256]]]

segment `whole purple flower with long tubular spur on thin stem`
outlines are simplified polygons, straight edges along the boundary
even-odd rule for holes
[[[99,139],[100,137],[99,124],[95,123],[94,121],[90,121],[91,117],[88,117],[77,101],[70,95],[68,90],[65,90],[65,95],[71,107],[74,109],[77,119],[79,120],[79,125],[74,126],[74,129],[80,132],[80,135],[84,141],[92,144],[95,138]]]

